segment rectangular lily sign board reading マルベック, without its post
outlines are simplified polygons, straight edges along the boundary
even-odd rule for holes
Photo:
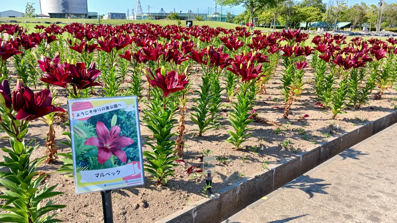
[[[143,185],[136,96],[68,101],[77,194]]]

